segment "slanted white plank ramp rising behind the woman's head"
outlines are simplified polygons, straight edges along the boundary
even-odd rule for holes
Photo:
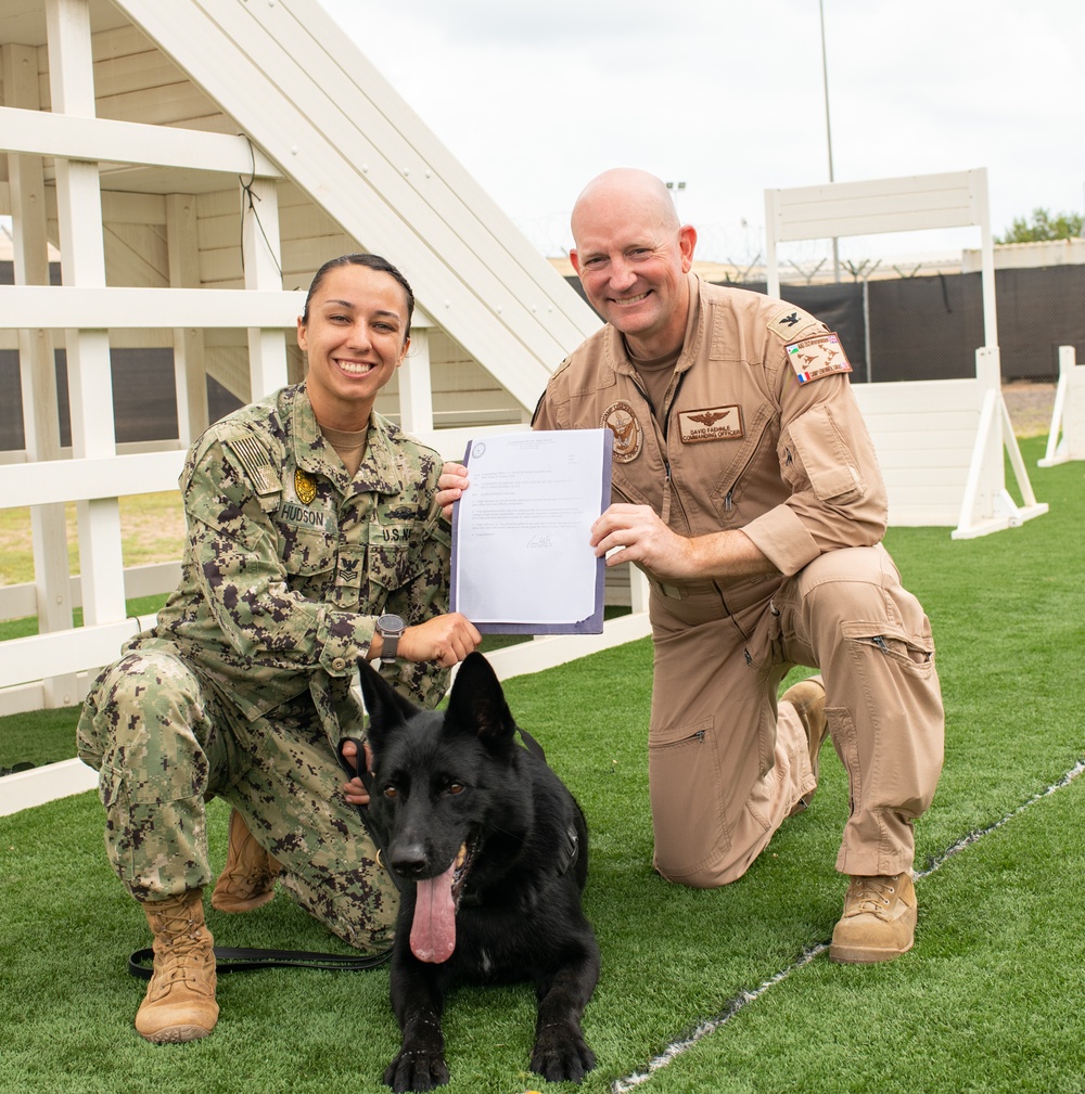
[[[114,2],[285,177],[400,266],[438,326],[534,407],[598,318],[318,0]]]

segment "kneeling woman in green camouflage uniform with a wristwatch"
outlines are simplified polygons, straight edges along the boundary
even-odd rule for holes
[[[203,911],[211,796],[233,806],[216,908],[265,904],[278,876],[351,945],[390,941],[395,891],[335,756],[361,730],[356,663],[383,654],[392,683],[434,706],[481,639],[447,612],[440,456],[373,411],[413,307],[377,256],[318,271],[298,319],[304,383],[193,445],[181,584],[86,698],[79,754],[101,771],[109,860],[154,934],[136,1017],[150,1040],[206,1036],[218,1017]]]

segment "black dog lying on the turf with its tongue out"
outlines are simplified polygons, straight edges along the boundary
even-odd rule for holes
[[[526,979],[539,999],[532,1070],[579,1082],[596,1062],[580,1015],[599,977],[580,910],[588,834],[579,806],[539,746],[535,755],[517,742],[481,653],[460,666],[445,712],[419,710],[366,662],[360,673],[369,816],[402,883],[391,986],[403,1044],[384,1082],[395,1091],[448,1082],[450,984]]]

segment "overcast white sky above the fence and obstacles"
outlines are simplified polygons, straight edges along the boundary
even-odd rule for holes
[[[829,179],[818,0],[322,2],[545,254],[608,167],[684,182],[713,260],[762,252],[765,188]],[[1085,0],[823,4],[838,182],[986,167],[995,234],[1082,211]],[[841,253],[962,245],[979,231]]]

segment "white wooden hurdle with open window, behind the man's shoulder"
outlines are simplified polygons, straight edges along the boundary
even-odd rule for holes
[[[1046,513],[1037,503],[1002,397],[986,168],[765,191],[769,294],[780,295],[776,244],[978,225],[984,345],[969,380],[856,384],[897,525],[951,525],[968,539]],[[1008,453],[1024,500],[1006,489]]]

